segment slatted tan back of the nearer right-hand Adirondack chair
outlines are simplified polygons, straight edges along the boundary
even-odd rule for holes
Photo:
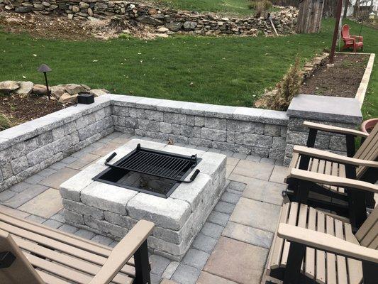
[[[373,212],[369,214],[355,236],[360,241],[361,246],[371,249],[378,248],[378,207],[375,207]]]

